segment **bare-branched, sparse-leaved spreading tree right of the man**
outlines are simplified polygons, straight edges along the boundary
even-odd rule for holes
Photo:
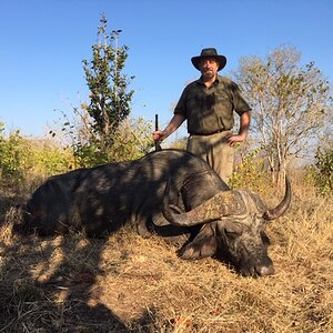
[[[236,80],[253,107],[252,132],[269,161],[273,180],[282,181],[287,163],[307,155],[332,111],[330,84],[314,62],[280,47],[265,60],[241,59]]]

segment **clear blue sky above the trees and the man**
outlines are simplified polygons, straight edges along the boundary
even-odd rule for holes
[[[228,75],[241,57],[290,44],[333,81],[331,0],[0,0],[0,122],[9,131],[42,137],[60,110],[88,101],[82,60],[91,59],[102,13],[129,47],[131,115],[159,113],[161,127],[199,77],[190,59],[202,48],[228,58]]]

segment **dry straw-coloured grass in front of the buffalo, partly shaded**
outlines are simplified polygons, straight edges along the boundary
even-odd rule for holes
[[[104,240],[19,238],[7,204],[0,332],[333,332],[332,200],[293,192],[268,228],[276,274],[264,279],[182,261],[127,228]]]

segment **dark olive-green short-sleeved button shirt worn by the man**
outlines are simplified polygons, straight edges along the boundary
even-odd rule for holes
[[[209,89],[201,78],[186,85],[174,114],[186,118],[189,133],[210,134],[231,130],[233,111],[241,115],[250,110],[239,87],[230,79],[218,75]]]

